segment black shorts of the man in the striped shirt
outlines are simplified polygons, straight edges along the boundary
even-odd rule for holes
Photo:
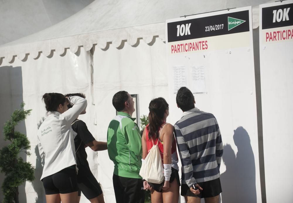
[[[182,184],[181,186],[181,195],[189,196],[189,197],[200,197],[200,198],[208,198],[215,197],[222,192],[220,178],[214,179],[212,181],[206,181],[197,183],[202,187],[203,190],[200,190],[199,195],[195,195],[190,191],[190,188],[186,184]]]

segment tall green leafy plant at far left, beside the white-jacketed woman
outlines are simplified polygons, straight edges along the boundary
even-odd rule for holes
[[[2,183],[2,202],[5,203],[19,203],[18,186],[25,181],[34,180],[34,167],[18,157],[20,152],[30,156],[30,152],[27,151],[30,150],[30,141],[25,134],[15,131],[15,126],[30,115],[31,110],[24,110],[24,105],[21,103],[21,108],[13,112],[11,119],[3,127],[4,140],[11,142],[0,150],[0,169],[6,176]]]

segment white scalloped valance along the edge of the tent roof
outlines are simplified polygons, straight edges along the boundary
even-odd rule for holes
[[[7,62],[13,63],[15,57],[26,61],[29,56],[38,59],[41,53],[46,57],[52,57],[54,53],[62,56],[66,54],[67,49],[76,53],[81,46],[84,47],[85,51],[89,51],[93,45],[105,50],[110,44],[116,48],[123,46],[125,42],[135,46],[140,39],[149,44],[157,37],[161,41],[165,41],[164,22],[0,47],[0,65],[4,58]]]

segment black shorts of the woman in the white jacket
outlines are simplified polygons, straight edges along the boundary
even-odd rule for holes
[[[45,194],[54,195],[76,192],[78,188],[74,168],[65,168],[53,175],[43,178],[42,182],[45,188]]]

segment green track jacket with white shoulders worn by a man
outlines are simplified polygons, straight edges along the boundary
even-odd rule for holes
[[[129,114],[118,112],[107,133],[108,154],[114,162],[114,174],[126,178],[141,178],[142,138],[134,120]]]

